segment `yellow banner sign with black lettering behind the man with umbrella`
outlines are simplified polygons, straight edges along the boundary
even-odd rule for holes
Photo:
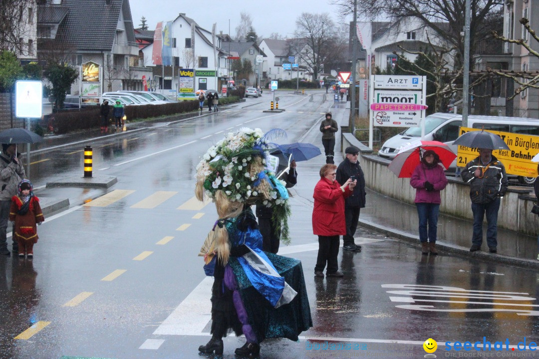
[[[481,129],[461,127],[459,136],[462,135],[462,133],[469,131],[481,131]],[[500,136],[509,146],[509,150],[492,151],[492,154],[506,167],[506,172],[508,174],[515,174],[523,177],[537,176],[537,163],[532,162],[531,159],[539,153],[539,136],[490,130],[488,132]],[[459,146],[457,152],[457,166],[464,167],[469,161],[478,156],[478,149]]]

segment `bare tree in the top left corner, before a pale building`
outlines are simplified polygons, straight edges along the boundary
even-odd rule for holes
[[[0,0],[0,50],[27,55],[27,39],[37,20],[33,0]]]

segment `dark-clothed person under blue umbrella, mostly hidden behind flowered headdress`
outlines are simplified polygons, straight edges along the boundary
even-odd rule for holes
[[[294,187],[298,182],[298,172],[296,172],[296,161],[290,163],[288,173],[284,173],[281,179],[286,181],[286,188]],[[262,235],[262,250],[277,254],[281,241],[280,233],[275,230],[275,223],[272,220],[274,207],[257,205],[256,214],[258,218],[258,229]]]

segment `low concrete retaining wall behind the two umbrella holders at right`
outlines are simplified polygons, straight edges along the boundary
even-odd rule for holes
[[[372,155],[372,150],[356,140],[350,133],[342,133],[341,143],[343,149],[354,145],[361,150],[360,163],[367,187],[391,198],[413,204],[416,190],[410,186],[409,178],[397,178],[389,170],[389,160]],[[448,180],[447,187],[441,192],[440,212],[473,219],[469,186],[460,178],[450,177]],[[501,228],[536,235],[539,232],[539,221],[537,215],[530,212],[534,202],[533,188],[510,186],[501,201],[497,225]]]

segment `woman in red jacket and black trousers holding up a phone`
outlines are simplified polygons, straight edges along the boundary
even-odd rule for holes
[[[313,233],[318,236],[318,258],[314,267],[316,277],[342,277],[338,271],[339,236],[346,234],[344,199],[350,196],[357,181],[350,178],[341,186],[336,180],[337,166],[326,164],[320,168],[320,181],[314,187]]]

